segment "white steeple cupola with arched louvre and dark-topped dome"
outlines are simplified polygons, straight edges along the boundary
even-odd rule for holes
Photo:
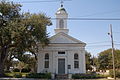
[[[61,4],[61,7],[56,12],[56,29],[55,33],[64,32],[68,34],[67,29],[67,18],[68,13],[66,12],[65,8],[63,7],[63,4]]]

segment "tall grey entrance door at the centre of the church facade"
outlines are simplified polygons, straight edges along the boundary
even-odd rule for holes
[[[58,59],[58,74],[65,74],[65,59]]]

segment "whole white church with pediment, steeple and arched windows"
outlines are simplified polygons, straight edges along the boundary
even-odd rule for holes
[[[47,47],[39,47],[38,73],[57,74],[86,73],[86,44],[68,34],[68,13],[63,5],[57,10],[55,35],[49,38]]]

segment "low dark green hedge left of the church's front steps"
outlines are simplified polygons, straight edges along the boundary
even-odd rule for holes
[[[51,79],[51,73],[30,73],[26,75],[27,78],[41,78],[41,79]]]

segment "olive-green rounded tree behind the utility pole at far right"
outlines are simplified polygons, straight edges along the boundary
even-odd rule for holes
[[[112,69],[112,53],[111,49],[107,49],[99,53],[98,62],[99,62],[99,69],[106,70]],[[115,67],[120,69],[120,50],[114,50],[115,55]]]

